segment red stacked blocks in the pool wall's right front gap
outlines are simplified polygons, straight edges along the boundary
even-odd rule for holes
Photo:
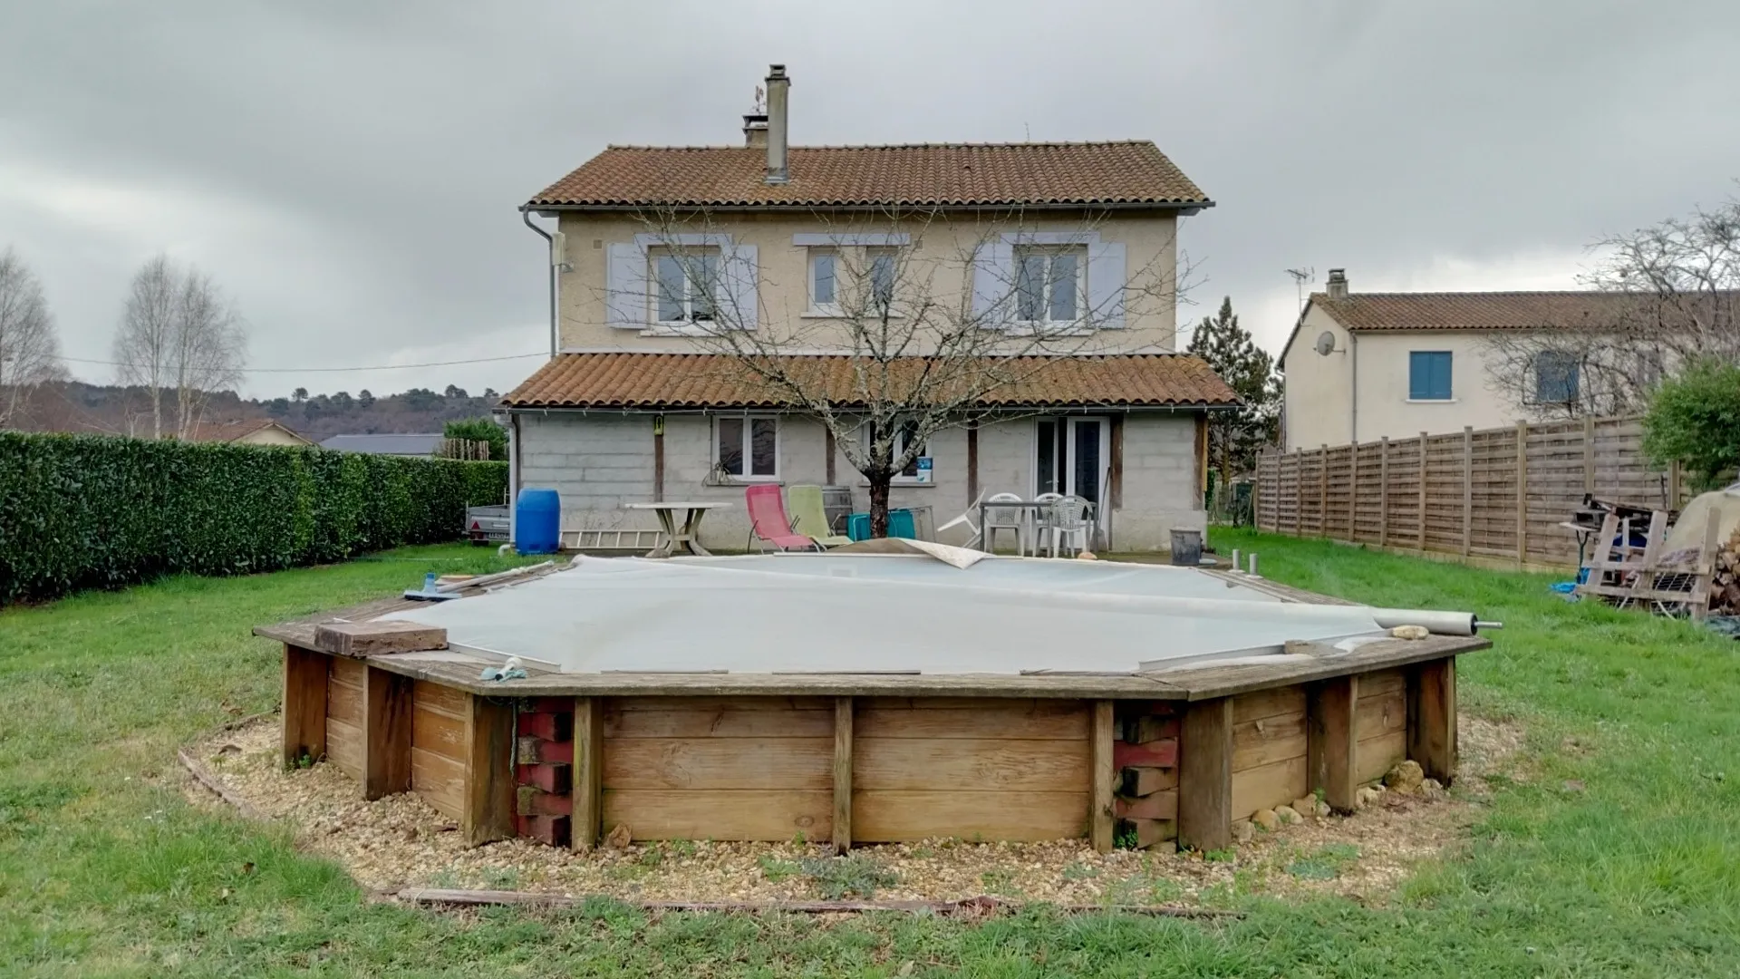
[[[1148,848],[1178,838],[1178,714],[1168,700],[1119,702],[1112,807],[1117,836]]]

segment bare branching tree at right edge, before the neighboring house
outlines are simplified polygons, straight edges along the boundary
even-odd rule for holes
[[[1740,362],[1740,202],[1594,242],[1592,294],[1486,341],[1489,387],[1543,418],[1641,411],[1693,359]]]

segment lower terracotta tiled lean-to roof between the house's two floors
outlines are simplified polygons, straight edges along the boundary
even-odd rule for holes
[[[901,361],[912,376],[922,359]],[[1185,408],[1228,406],[1239,399],[1199,357],[1107,354],[1007,361],[1007,385],[980,399],[981,408]],[[854,402],[854,361],[795,355],[792,373],[813,371],[837,404]],[[898,380],[896,380],[898,383]],[[508,392],[510,408],[781,408],[783,401],[726,354],[560,354]]]

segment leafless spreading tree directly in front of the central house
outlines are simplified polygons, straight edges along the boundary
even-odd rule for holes
[[[1021,211],[966,221],[940,209],[844,223],[814,214],[825,228],[818,240],[835,244],[814,249],[806,284],[776,289],[753,260],[719,246],[729,239],[713,218],[705,209],[642,211],[658,242],[651,282],[606,303],[651,305],[661,329],[726,355],[726,380],[821,423],[868,483],[873,537],[887,535],[889,488],[912,472],[931,435],[1030,415],[1025,406],[1047,371],[1128,352],[1115,341],[1119,327],[1129,317],[1171,315],[1188,265],[1166,242],[1134,272],[1121,260],[1115,280],[1091,279],[1100,249],[1124,254],[1122,244],[1100,244],[1096,218],[1058,230],[1047,214],[1041,230]]]

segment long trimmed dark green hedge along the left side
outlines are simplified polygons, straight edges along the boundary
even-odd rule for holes
[[[454,540],[505,462],[0,432],[0,603]]]

